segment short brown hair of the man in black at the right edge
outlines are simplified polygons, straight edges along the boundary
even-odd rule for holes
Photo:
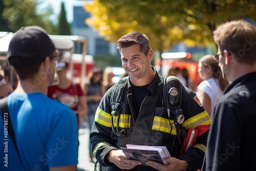
[[[222,24],[214,31],[214,40],[221,53],[227,50],[238,62],[256,62],[256,29],[250,23],[236,20]]]

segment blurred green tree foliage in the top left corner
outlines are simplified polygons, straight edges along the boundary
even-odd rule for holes
[[[16,32],[21,27],[37,25],[46,29],[49,34],[55,33],[55,26],[49,19],[49,16],[53,14],[51,8],[48,8],[44,13],[37,14],[38,3],[35,0],[8,0],[3,1],[1,5],[3,5],[1,6],[1,18],[6,23],[8,31]],[[3,29],[2,31],[6,30]]]

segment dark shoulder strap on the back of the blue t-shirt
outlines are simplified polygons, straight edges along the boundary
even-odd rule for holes
[[[18,147],[17,147],[17,143],[16,143],[16,139],[15,139],[15,135],[14,135],[14,131],[12,128],[12,123],[11,123],[11,118],[9,115],[9,110],[8,110],[8,105],[7,105],[7,97],[0,99],[0,109],[1,109],[1,114],[3,117],[3,121],[4,121],[4,129],[6,129],[12,139],[12,142],[16,148],[16,151],[18,153],[18,156],[20,158],[19,155],[19,151],[18,151]],[[5,135],[5,139],[8,139],[8,135]]]

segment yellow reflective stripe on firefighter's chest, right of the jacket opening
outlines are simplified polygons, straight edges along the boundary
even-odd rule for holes
[[[174,121],[170,120],[170,123],[173,124]],[[170,133],[170,123],[169,123],[168,119],[165,119],[165,118],[162,118],[159,116],[155,116],[154,121],[153,121],[152,130]],[[176,135],[176,127],[174,124],[173,124],[172,134]]]

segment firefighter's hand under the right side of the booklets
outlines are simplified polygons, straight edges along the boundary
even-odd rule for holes
[[[188,164],[185,160],[179,160],[174,157],[169,157],[169,158],[164,158],[163,161],[168,162],[168,165],[164,165],[152,160],[148,160],[146,164],[161,171],[167,171],[167,170],[178,171],[178,170],[188,169]]]

